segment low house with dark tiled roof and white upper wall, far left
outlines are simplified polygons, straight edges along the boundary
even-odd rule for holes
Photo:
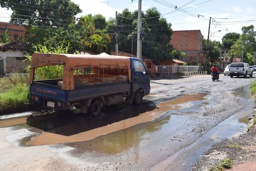
[[[25,59],[24,54],[27,48],[28,44],[21,41],[1,44],[0,61],[3,63],[3,69],[0,72],[7,75],[13,72],[25,72],[28,62],[23,60]]]

